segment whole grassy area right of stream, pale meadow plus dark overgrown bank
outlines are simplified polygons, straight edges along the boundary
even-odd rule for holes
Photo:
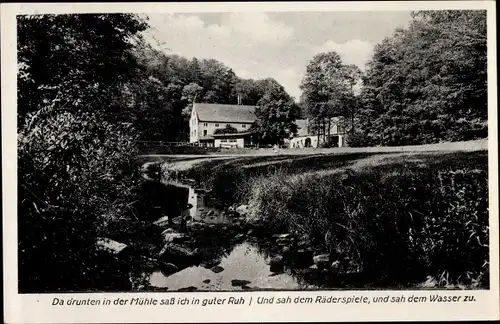
[[[238,157],[181,176],[374,285],[488,287],[487,151]]]

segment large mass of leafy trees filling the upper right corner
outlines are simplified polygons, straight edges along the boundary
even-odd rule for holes
[[[487,136],[486,12],[422,11],[375,47],[361,91],[365,145]]]

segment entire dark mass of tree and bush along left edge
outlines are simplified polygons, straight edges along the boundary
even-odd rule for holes
[[[113,285],[98,283],[95,243],[131,213],[136,136],[121,94],[145,27],[134,15],[18,16],[21,292]]]

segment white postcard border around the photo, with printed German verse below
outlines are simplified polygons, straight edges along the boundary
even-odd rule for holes
[[[477,291],[293,291],[209,293],[17,293],[17,154],[16,154],[16,20],[18,13],[83,12],[227,12],[227,11],[397,11],[418,9],[487,9],[488,105],[489,105],[489,200],[490,200],[490,290]],[[289,3],[78,3],[2,4],[2,175],[4,239],[4,310],[7,323],[96,323],[96,322],[281,322],[281,321],[380,321],[380,320],[488,320],[499,318],[498,255],[498,150],[496,90],[496,13],[493,1],[435,2],[289,2]],[[316,296],[429,296],[434,293],[474,296],[471,303],[414,304],[257,304],[259,296],[295,298]],[[229,298],[244,296],[252,306],[52,306],[57,298]]]

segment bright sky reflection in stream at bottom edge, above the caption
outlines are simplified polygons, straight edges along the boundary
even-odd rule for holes
[[[153,287],[167,287],[169,290],[190,286],[199,290],[242,290],[244,288],[234,287],[231,283],[232,280],[238,279],[249,281],[248,287],[251,289],[312,288],[299,283],[290,274],[271,272],[267,261],[257,247],[245,242],[234,247],[231,253],[221,260],[219,266],[224,270],[220,273],[201,266],[189,267],[170,276],[156,271],[151,274],[149,283]]]

